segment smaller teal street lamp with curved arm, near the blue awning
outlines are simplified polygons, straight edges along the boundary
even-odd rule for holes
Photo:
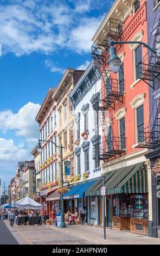
[[[37,145],[37,151],[39,153],[41,153],[41,151],[42,151],[41,142],[48,142],[48,141],[43,141],[43,140],[39,139],[39,143]],[[61,186],[63,187],[63,156],[62,156],[62,154],[63,154],[64,147],[62,146],[62,144],[60,146],[58,146],[53,141],[49,141],[49,142],[53,143],[55,145],[55,147],[60,150],[60,154],[61,154]],[[60,224],[60,228],[66,228],[63,194],[61,195],[61,224]]]

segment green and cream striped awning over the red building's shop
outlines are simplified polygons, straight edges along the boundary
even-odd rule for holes
[[[147,173],[144,162],[122,167],[104,174],[106,194],[148,192]],[[102,178],[85,193],[86,197],[100,196]]]

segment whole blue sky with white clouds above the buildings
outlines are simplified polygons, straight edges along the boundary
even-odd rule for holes
[[[66,68],[86,69],[113,0],[0,0],[0,179],[32,160],[35,117]],[[1,52],[0,51],[0,52]]]

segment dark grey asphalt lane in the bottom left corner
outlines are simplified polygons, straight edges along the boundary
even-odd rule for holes
[[[0,219],[0,245],[18,245],[17,240],[11,234],[10,230],[5,225],[4,221]]]

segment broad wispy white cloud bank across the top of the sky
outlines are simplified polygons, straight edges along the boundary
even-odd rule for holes
[[[62,48],[76,53],[90,52],[91,38],[101,19],[90,16],[86,18],[86,12],[98,8],[101,1],[95,2],[96,4],[90,0],[1,2],[0,43],[3,54],[50,54]]]

